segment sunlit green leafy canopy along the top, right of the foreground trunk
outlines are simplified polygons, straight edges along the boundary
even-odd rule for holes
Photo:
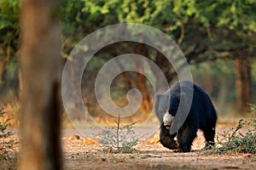
[[[131,22],[166,32],[196,62],[231,58],[234,51],[255,47],[255,2],[61,0],[63,49],[70,52],[82,37],[103,26]]]

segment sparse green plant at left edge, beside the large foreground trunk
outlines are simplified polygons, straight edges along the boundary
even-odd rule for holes
[[[4,109],[0,106],[0,117],[4,117]],[[6,132],[9,127],[9,118],[3,119],[0,122],[0,161],[11,161],[9,151],[13,150],[14,145],[16,144],[15,140],[9,139],[13,135],[12,132]]]

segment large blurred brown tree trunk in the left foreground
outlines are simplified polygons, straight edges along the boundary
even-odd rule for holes
[[[21,0],[20,170],[61,169],[58,0]]]

